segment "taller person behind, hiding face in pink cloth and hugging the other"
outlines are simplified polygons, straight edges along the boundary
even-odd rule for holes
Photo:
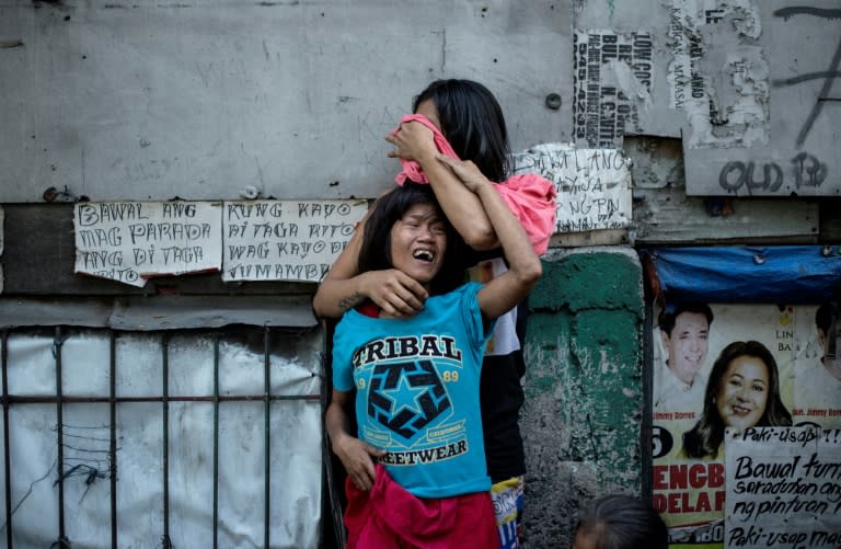
[[[428,183],[463,240],[475,251],[471,277],[487,283],[507,266],[499,241],[482,204],[437,158],[439,155],[474,164],[518,219],[534,251],[546,251],[555,228],[555,190],[534,174],[511,176],[511,157],[502,107],[491,91],[471,80],[437,80],[414,100],[413,114],[403,117],[385,139],[394,146],[390,157],[400,159],[395,183]],[[376,204],[373,206],[377,207]],[[380,314],[412,317],[428,297],[423,285],[396,270],[359,274],[362,240],[357,230],[345,251],[322,281],[313,310],[323,318],[338,318],[370,300]],[[522,344],[526,300],[497,320],[483,359],[481,408],[487,473],[497,512],[500,547],[519,547],[526,460],[519,431],[523,402],[520,378],[525,374]]]

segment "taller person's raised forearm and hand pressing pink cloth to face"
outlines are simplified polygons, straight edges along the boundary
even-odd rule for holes
[[[429,128],[418,122],[405,123],[400,131],[385,137],[385,140],[396,147],[396,152],[390,152],[390,157],[420,164],[447,219],[471,248],[492,250],[499,245],[479,197],[462,184],[452,170],[436,159],[438,150]]]

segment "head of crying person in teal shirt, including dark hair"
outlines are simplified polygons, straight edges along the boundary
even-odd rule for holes
[[[399,268],[430,294],[443,294],[464,279],[461,242],[431,187],[406,182],[377,201],[365,224],[358,268]]]

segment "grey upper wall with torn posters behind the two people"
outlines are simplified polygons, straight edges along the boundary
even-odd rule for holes
[[[692,195],[841,196],[838,5],[809,3],[4,2],[0,202],[375,196],[441,77],[515,150],[682,136]]]

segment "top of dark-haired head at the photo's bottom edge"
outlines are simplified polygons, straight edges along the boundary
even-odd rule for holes
[[[667,549],[669,533],[660,515],[630,495],[608,495],[581,513],[578,528],[598,534],[599,549]]]

